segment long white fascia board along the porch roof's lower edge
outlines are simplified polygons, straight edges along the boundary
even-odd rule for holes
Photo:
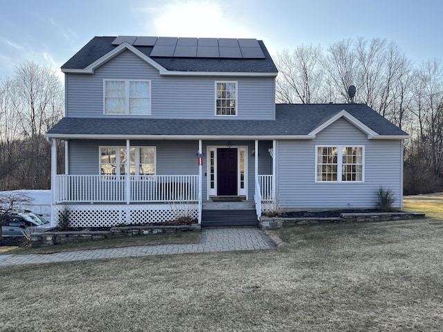
[[[46,138],[59,140],[313,140],[316,136],[309,135],[89,135],[89,134],[63,134],[47,133]]]

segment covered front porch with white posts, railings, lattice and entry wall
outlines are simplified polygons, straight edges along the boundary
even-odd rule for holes
[[[223,190],[228,193],[233,190],[233,195],[252,202],[255,217],[259,219],[262,203],[269,203],[275,197],[275,178],[269,174],[275,169],[275,142],[272,141],[259,145],[258,140],[147,140],[133,144],[131,140],[125,144],[111,140],[69,140],[65,142],[66,174],[55,174],[57,145],[55,140],[51,143],[54,223],[60,220],[64,210],[70,211],[73,227],[162,223],[185,217],[201,223],[203,204],[213,196],[223,196]],[[145,147],[149,147],[149,156]],[[95,151],[100,154],[98,164],[95,158],[82,162],[77,158],[86,154],[93,156]],[[230,154],[229,163],[224,163],[221,152],[230,151],[234,154]],[[176,159],[171,158],[172,155]],[[146,161],[147,157],[150,161]],[[137,161],[142,159],[143,165]],[[88,173],[79,174],[82,169]],[[98,175],[91,174],[94,169],[99,170]],[[189,173],[164,175],[168,169]],[[222,173],[222,169],[225,172]],[[258,175],[259,171],[266,174]],[[228,181],[231,181],[230,187],[226,187]]]

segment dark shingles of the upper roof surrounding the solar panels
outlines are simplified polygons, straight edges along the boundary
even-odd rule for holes
[[[83,69],[100,57],[106,55],[117,45],[111,43],[116,37],[93,37],[78,53],[69,59],[62,69]],[[258,41],[262,48],[264,59],[226,59],[202,57],[151,57],[153,46],[134,46],[144,55],[151,57],[155,62],[168,71],[201,71],[224,73],[277,73],[277,67],[266,50],[262,41]]]

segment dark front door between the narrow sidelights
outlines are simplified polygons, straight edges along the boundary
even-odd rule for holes
[[[217,195],[237,196],[237,149],[217,149]]]

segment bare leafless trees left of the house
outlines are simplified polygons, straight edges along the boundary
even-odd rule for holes
[[[0,190],[50,185],[51,149],[44,133],[62,118],[62,82],[51,68],[24,62],[0,84]]]

